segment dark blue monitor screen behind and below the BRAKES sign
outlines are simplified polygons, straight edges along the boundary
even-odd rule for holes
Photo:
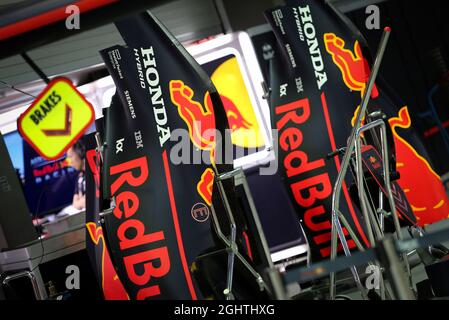
[[[4,139],[33,216],[57,213],[72,203],[78,172],[70,167],[65,155],[45,160],[17,131],[5,134]]]

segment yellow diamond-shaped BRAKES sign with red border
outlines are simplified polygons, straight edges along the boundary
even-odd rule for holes
[[[56,78],[17,120],[22,137],[45,159],[61,157],[92,124],[92,105],[70,80]]]

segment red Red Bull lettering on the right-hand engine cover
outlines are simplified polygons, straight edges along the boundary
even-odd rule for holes
[[[327,109],[325,96],[322,95],[323,108]],[[311,232],[310,242],[319,248],[322,258],[329,257],[331,253],[331,221],[330,212],[326,204],[332,197],[332,183],[328,172],[323,172],[326,162],[323,158],[312,158],[308,150],[303,149],[305,139],[313,139],[310,135],[305,135],[301,131],[301,126],[306,124],[312,114],[313,107],[308,98],[297,100],[285,105],[276,106],[274,112],[280,118],[276,123],[280,137],[304,137],[304,139],[287,139],[280,143],[280,149],[288,152],[284,161],[283,169],[289,178],[289,189],[293,194],[296,204],[304,210],[304,225]],[[291,123],[297,127],[289,127]],[[282,138],[281,138],[282,139]],[[303,175],[308,178],[304,179]],[[346,195],[345,195],[346,197]],[[348,195],[349,197],[349,195]],[[352,207],[351,207],[352,208]],[[351,214],[353,212],[352,209]],[[354,217],[354,214],[352,214]],[[355,220],[357,221],[357,220]],[[358,224],[358,222],[356,222]],[[357,228],[361,230],[360,225]],[[343,228],[345,237],[349,237],[348,231]],[[366,237],[363,235],[365,243]],[[352,239],[348,239],[350,249],[356,247]],[[341,245],[338,251],[341,251]]]

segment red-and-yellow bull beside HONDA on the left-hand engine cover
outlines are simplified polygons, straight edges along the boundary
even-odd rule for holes
[[[214,163],[215,150],[215,116],[209,92],[204,96],[204,108],[201,103],[193,101],[193,90],[181,80],[170,81],[170,97],[178,108],[179,116],[187,124],[192,143],[202,151],[209,151],[211,163]],[[215,174],[210,168],[201,175],[197,184],[198,194],[210,206]]]

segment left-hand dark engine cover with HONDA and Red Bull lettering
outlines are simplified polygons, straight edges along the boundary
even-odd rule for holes
[[[211,197],[215,164],[204,155],[214,160],[222,150],[216,132],[225,134],[226,113],[207,74],[154,16],[116,26],[126,46],[101,51],[117,88],[102,137],[116,146],[105,149],[101,177],[104,206],[114,210],[103,224],[109,253],[130,299],[202,299],[208,289],[191,267],[219,244],[206,205],[219,201]],[[199,163],[170,161],[178,129]]]

